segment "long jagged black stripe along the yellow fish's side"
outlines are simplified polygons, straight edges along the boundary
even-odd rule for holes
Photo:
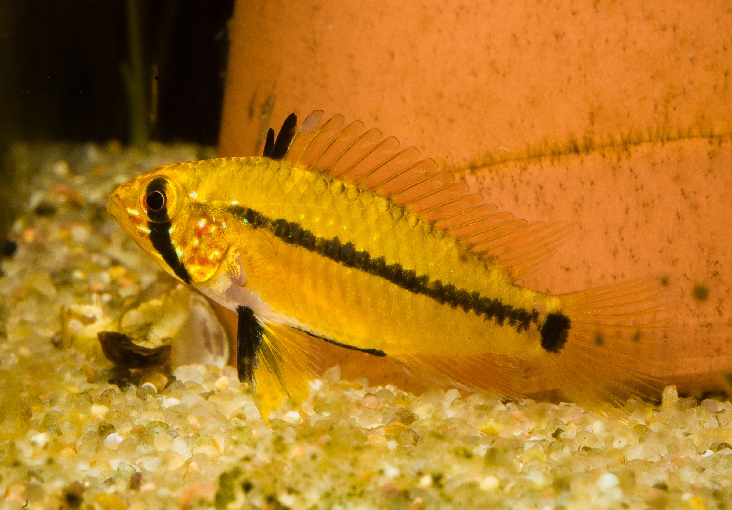
[[[539,323],[537,310],[514,308],[503,304],[500,299],[483,297],[478,292],[456,288],[450,283],[444,285],[440,280],[430,281],[427,275],[418,275],[411,269],[403,269],[399,263],[386,264],[384,257],[371,258],[370,253],[365,250],[356,251],[353,243],[343,244],[337,237],[333,239],[315,237],[312,232],[305,230],[296,222],[272,220],[258,211],[242,206],[228,206],[228,210],[253,228],[271,230],[277,238],[287,244],[303,247],[340,262],[346,267],[384,278],[410,292],[434,299],[440,304],[447,304],[452,308],[460,307],[465,312],[472,311],[486,320],[493,320],[498,326],[503,326],[505,323],[520,333],[529,329],[531,323]]]

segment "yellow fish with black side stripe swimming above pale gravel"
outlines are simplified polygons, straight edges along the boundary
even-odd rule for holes
[[[522,360],[589,408],[655,394],[664,361],[639,353],[668,332],[665,280],[517,285],[569,225],[517,220],[417,149],[322,113],[269,130],[263,157],[156,168],[108,205],[165,271],[238,312],[239,378],[265,419],[307,397],[322,341],[506,397],[524,393]]]

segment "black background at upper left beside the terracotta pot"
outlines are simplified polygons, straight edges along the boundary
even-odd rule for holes
[[[152,140],[218,140],[233,0],[132,0]],[[0,150],[15,140],[128,143],[125,0],[0,0]]]

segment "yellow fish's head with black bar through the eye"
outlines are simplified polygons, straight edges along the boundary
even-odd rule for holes
[[[209,280],[224,262],[230,235],[215,203],[201,199],[205,162],[155,168],[121,184],[107,210],[168,274],[193,284]]]

